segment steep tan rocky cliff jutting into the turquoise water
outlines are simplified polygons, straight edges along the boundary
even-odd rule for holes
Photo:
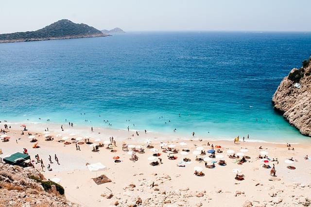
[[[301,134],[311,136],[311,57],[282,80],[272,102]]]

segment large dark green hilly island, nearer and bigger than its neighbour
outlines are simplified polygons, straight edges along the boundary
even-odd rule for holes
[[[61,19],[42,29],[31,32],[0,34],[0,43],[28,42],[52,39],[72,39],[108,36],[87,24],[77,24],[68,19]]]

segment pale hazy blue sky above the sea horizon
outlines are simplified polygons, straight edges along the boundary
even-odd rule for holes
[[[99,30],[310,31],[311,0],[3,0],[0,34],[66,18]]]

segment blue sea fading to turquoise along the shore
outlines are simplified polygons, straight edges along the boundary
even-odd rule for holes
[[[0,120],[308,139],[271,99],[310,54],[311,33],[132,32],[0,44]]]

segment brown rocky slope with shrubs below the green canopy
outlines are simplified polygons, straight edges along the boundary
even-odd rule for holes
[[[51,190],[45,190],[34,177],[45,180],[32,167],[0,163],[0,207],[78,207],[60,195],[55,185],[51,186]]]

